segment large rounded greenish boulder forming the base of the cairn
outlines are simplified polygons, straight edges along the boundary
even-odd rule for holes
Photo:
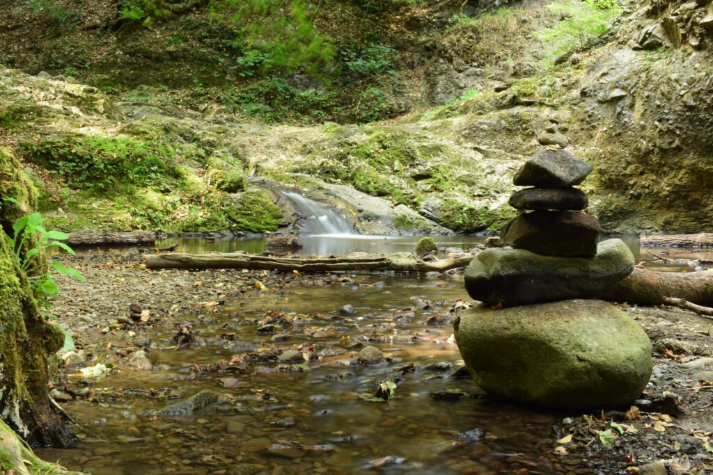
[[[481,304],[461,313],[453,326],[478,386],[508,400],[597,409],[629,404],[652,371],[644,330],[604,301],[499,310]]]

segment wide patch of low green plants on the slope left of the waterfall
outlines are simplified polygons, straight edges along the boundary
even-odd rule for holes
[[[173,149],[153,141],[66,135],[24,142],[23,155],[58,173],[73,188],[106,192],[118,184],[157,184],[173,172]]]

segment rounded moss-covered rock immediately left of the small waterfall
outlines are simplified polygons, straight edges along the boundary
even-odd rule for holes
[[[224,209],[235,228],[255,233],[277,231],[284,219],[282,210],[260,189],[243,192],[237,200],[225,202]]]

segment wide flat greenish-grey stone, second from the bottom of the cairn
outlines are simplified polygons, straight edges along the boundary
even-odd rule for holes
[[[621,239],[600,242],[594,259],[491,248],[468,265],[466,290],[478,301],[506,307],[591,298],[633,270],[634,256]]]

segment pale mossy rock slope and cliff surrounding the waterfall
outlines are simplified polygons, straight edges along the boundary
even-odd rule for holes
[[[582,28],[566,24],[570,11],[535,0],[507,5],[487,13],[482,2],[428,2],[424,8],[438,12],[432,21],[401,10],[420,45],[411,71],[422,87],[411,95],[451,99],[391,122],[266,125],[210,104],[185,110],[170,98],[112,97],[74,80],[3,69],[0,127],[47,185],[43,207],[66,229],[235,226],[230,210],[249,186],[245,178],[262,176],[316,189],[362,229],[380,218],[360,206],[360,194],[391,202],[394,232],[435,229],[426,220],[497,230],[512,216],[512,174],[556,120],[570,149],[595,168],[585,192],[605,230],[712,231],[712,3],[628,2],[613,28],[560,55],[557,35]],[[49,150],[128,150],[148,170],[152,157],[165,167],[153,170],[153,181],[108,192],[72,181],[76,160]],[[64,191],[71,189],[80,192]],[[275,230],[278,221],[256,230]]]

